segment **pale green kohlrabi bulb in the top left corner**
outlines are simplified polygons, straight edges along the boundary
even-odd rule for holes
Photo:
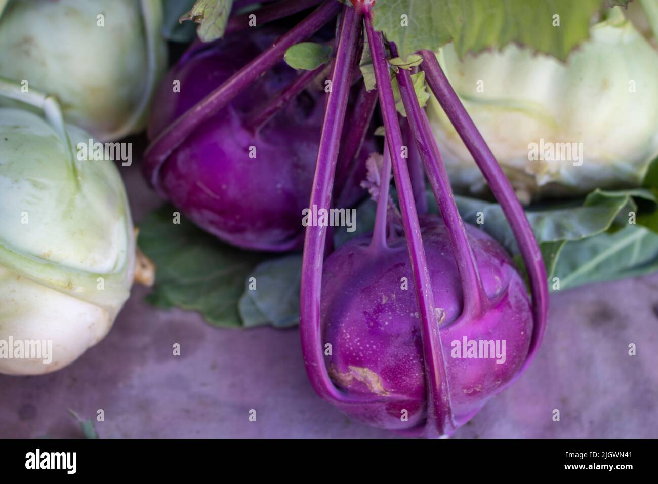
[[[95,139],[139,132],[166,68],[161,0],[0,0],[0,76],[57,95]]]

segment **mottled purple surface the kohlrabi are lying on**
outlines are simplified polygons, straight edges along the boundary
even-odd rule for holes
[[[121,171],[139,223],[160,202],[136,165]],[[297,329],[215,329],[195,313],[154,309],[145,294],[134,288],[107,338],[69,367],[0,375],[0,437],[80,437],[68,409],[95,419],[99,408],[101,438],[393,437],[315,395]],[[455,438],[658,437],[657,330],[658,275],[553,294],[530,369]]]

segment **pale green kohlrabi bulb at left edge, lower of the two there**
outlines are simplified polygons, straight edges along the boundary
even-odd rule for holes
[[[0,108],[0,373],[36,375],[107,334],[136,249],[114,162],[78,160],[91,135],[64,124],[53,97],[18,93],[45,116]]]

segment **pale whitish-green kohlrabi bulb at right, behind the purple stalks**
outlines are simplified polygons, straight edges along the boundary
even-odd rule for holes
[[[566,64],[516,45],[463,62],[447,45],[437,57],[522,202],[638,186],[658,155],[658,52],[621,14]],[[486,191],[434,97],[428,115],[453,184]]]

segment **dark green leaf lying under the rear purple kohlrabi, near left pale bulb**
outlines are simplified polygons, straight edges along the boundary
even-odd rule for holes
[[[139,247],[157,268],[149,302],[198,311],[216,326],[240,327],[244,281],[265,256],[223,244],[175,214],[174,207],[164,205],[139,227]]]

